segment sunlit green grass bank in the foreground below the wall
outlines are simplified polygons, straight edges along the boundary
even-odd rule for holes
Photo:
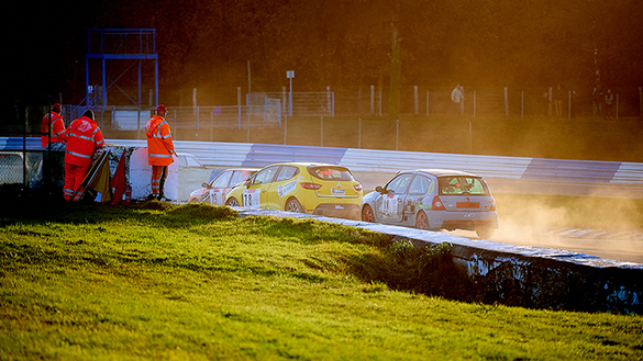
[[[450,301],[467,284],[445,245],[208,205],[4,205],[2,360],[643,358],[639,315]]]

